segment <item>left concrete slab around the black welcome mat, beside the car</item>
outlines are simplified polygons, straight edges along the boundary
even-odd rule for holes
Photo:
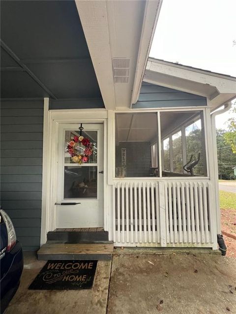
[[[88,290],[28,290],[46,263],[24,254],[21,284],[4,314],[106,314],[111,261],[99,261]]]

